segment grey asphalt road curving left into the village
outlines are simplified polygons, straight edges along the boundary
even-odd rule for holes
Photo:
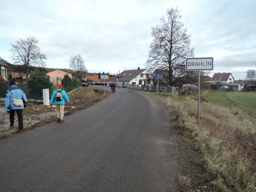
[[[111,94],[64,123],[0,140],[0,191],[178,191],[162,106],[138,92]]]

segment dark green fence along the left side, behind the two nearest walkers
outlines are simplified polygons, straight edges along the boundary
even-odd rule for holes
[[[63,78],[59,84],[62,84],[62,89],[66,92],[70,92],[78,87],[81,87],[81,79],[70,79]],[[9,83],[0,83],[0,98],[5,98],[6,91],[9,89]],[[49,89],[49,94],[52,95],[52,92],[57,89],[57,85],[52,84],[18,84],[16,85],[22,89],[27,99],[37,99],[40,95],[43,95],[43,89]]]

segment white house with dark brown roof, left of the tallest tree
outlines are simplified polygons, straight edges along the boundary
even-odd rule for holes
[[[150,71],[148,69],[134,69],[134,70],[125,70],[122,73],[116,75],[117,78],[116,83],[118,86],[121,86],[120,84],[132,84],[134,85],[149,85],[152,84],[152,82],[149,80],[149,78],[152,76]]]

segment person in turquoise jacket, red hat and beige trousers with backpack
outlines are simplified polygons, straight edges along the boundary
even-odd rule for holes
[[[58,84],[57,86],[57,90],[58,91],[61,91],[62,93],[62,97],[63,99],[61,101],[56,101],[55,100],[55,96],[57,94],[57,90],[55,90],[53,93],[52,93],[52,98],[51,98],[51,101],[50,101],[50,106],[52,107],[52,104],[54,102],[54,104],[56,105],[57,107],[57,121],[59,121],[60,123],[62,123],[64,120],[63,120],[63,117],[64,117],[64,105],[65,105],[65,101],[68,103],[68,105],[70,105],[70,102],[69,102],[69,98],[68,98],[68,94],[62,89],[62,85],[61,84]]]

